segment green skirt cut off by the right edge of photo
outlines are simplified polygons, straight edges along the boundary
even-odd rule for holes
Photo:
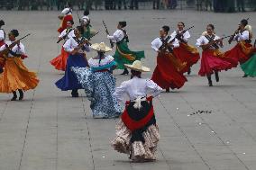
[[[256,54],[253,54],[251,58],[241,65],[242,71],[248,76],[256,76]]]

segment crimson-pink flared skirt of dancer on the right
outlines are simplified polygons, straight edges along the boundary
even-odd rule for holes
[[[213,74],[214,71],[221,71],[231,69],[233,64],[224,57],[224,55],[218,55],[217,50],[206,49],[203,50],[201,58],[201,67],[198,72],[200,76],[206,76]]]

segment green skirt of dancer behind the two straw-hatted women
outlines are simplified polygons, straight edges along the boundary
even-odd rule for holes
[[[133,61],[141,60],[141,58],[145,58],[144,51],[130,50],[124,40],[116,44],[114,53],[114,60],[117,63],[116,69],[124,69],[124,64],[133,64]]]

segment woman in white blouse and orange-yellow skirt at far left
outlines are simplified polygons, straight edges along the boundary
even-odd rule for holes
[[[18,36],[19,31],[10,31],[10,41],[6,41],[0,48],[5,57],[5,69],[0,76],[0,93],[13,93],[12,101],[17,99],[17,90],[20,94],[19,100],[23,100],[23,91],[34,89],[39,83],[36,74],[23,65],[21,56],[25,54],[25,49],[23,43],[16,41]]]

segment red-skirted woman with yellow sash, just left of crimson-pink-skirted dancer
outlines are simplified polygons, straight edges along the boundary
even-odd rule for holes
[[[179,47],[173,49],[175,56],[182,62],[187,63],[187,66],[182,70],[182,72],[187,72],[187,75],[190,75],[191,67],[197,63],[200,59],[200,55],[197,48],[187,44],[187,41],[190,38],[190,33],[184,28],[184,22],[178,22],[178,30],[173,31],[171,37],[176,37],[179,43]]]

